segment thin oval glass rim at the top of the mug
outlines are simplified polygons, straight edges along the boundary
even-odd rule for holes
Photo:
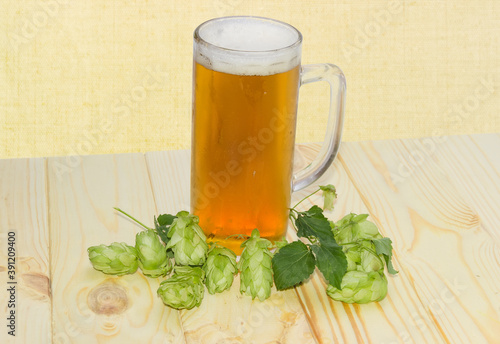
[[[203,29],[203,26],[215,21],[219,20],[224,20],[224,19],[237,19],[237,18],[242,18],[242,19],[257,19],[257,20],[263,20],[263,21],[269,21],[273,23],[277,23],[283,26],[286,26],[287,28],[291,29],[297,34],[297,40],[293,42],[290,45],[287,45],[285,47],[277,48],[277,49],[263,49],[263,50],[244,50],[244,49],[231,49],[231,48],[225,48],[221,47],[217,44],[213,44],[210,42],[207,42],[200,36],[200,30]],[[287,49],[293,49],[299,46],[302,43],[302,34],[300,33],[297,28],[295,28],[293,25],[290,25],[288,23],[282,22],[280,20],[272,19],[272,18],[266,18],[266,17],[259,17],[259,16],[226,16],[226,17],[217,17],[217,18],[212,18],[209,20],[204,21],[198,27],[194,30],[194,41],[198,44],[203,44],[206,45],[207,47],[212,47],[218,50],[223,50],[227,52],[232,52],[232,53],[245,53],[245,54],[262,54],[262,53],[273,53],[273,52],[278,52],[278,51],[284,51]]]

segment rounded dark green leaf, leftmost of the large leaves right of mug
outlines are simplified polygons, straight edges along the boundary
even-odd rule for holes
[[[272,263],[276,288],[283,290],[307,279],[313,273],[316,261],[303,242],[294,241],[280,248]]]

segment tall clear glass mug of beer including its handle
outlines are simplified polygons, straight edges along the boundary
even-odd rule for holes
[[[194,32],[191,212],[212,241],[241,252],[254,228],[280,240],[292,191],[317,180],[341,140],[345,79],[332,64],[300,65],[302,35],[260,17],[224,17]],[[293,174],[298,90],[330,84],[330,117],[315,160]]]

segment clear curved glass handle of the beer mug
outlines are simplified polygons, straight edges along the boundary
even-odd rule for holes
[[[307,167],[294,174],[293,191],[305,188],[321,177],[332,164],[340,148],[346,92],[344,74],[339,67],[328,63],[302,66],[300,86],[316,81],[327,81],[330,84],[330,114],[325,140],[318,156]]]

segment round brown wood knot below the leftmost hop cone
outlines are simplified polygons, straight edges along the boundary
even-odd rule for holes
[[[121,314],[128,308],[127,292],[123,287],[108,280],[90,291],[87,303],[96,314]]]

